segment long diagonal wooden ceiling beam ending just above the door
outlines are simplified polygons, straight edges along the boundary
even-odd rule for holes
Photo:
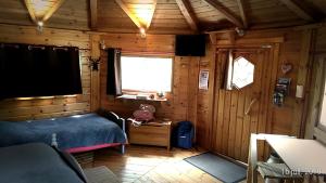
[[[244,28],[241,21],[237,18],[228,9],[226,9],[223,4],[221,4],[217,0],[203,0],[211,6],[215,8],[220,13],[222,13],[229,22],[235,24],[239,28]]]

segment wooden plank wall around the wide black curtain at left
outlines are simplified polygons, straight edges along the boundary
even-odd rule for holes
[[[45,28],[42,34],[38,34],[34,26],[0,24],[0,42],[78,47],[80,49],[83,83],[83,94],[76,96],[0,101],[1,120],[38,119],[90,110],[89,35],[82,31],[52,28]]]

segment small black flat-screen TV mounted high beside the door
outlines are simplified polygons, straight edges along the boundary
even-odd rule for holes
[[[177,35],[175,38],[175,55],[204,56],[205,35]]]

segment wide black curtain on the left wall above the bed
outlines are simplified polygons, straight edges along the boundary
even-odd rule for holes
[[[0,100],[79,93],[78,48],[0,44]]]

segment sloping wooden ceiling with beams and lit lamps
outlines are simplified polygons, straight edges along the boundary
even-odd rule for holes
[[[43,21],[45,27],[109,32],[262,29],[325,17],[325,0],[0,0],[0,24]]]

